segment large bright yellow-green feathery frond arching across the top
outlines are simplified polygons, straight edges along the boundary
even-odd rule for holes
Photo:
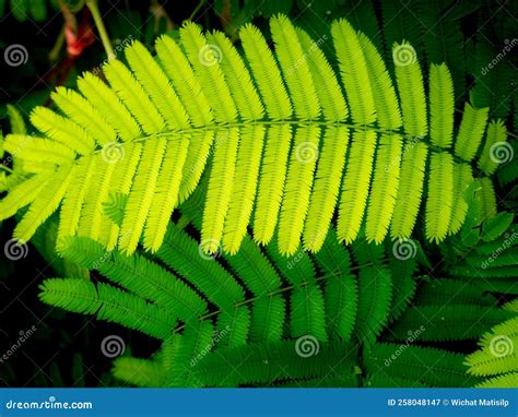
[[[392,239],[410,237],[422,199],[428,240],[457,231],[487,109],[466,104],[450,150],[454,91],[444,64],[431,67],[427,103],[414,49],[396,45],[398,99],[370,41],[348,22],[335,22],[348,105],[307,34],[284,16],[272,19],[271,29],[279,65],[251,25],[240,33],[247,68],[222,34],[205,37],[188,23],[181,47],[158,39],[157,59],[134,43],[126,50],[132,71],[117,60],[107,63],[110,87],[85,73],[78,81],[84,96],[58,88],[52,98],[66,116],[44,107],[31,116],[44,138],[5,139],[5,150],[22,163],[14,174],[24,180],[0,203],[0,217],[30,204],[15,238],[28,240],[60,206],[58,245],[78,234],[130,254],[143,236],[144,248],[156,251],[173,210],[196,188],[208,160],[201,230],[208,253],[221,245],[235,253],[254,207],[255,240],[269,243],[279,224],[284,254],[301,240],[317,252],[337,206],[338,238],[348,243],[363,218],[369,241],[381,242],[389,228]],[[491,122],[478,163],[483,172],[497,166],[491,145],[505,140],[504,124]],[[491,199],[491,181],[480,182]],[[120,227],[99,210],[110,193],[129,195]]]

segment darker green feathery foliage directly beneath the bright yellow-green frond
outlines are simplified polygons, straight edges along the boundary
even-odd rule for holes
[[[168,225],[153,257],[140,250],[126,257],[89,238],[67,239],[64,258],[98,271],[109,284],[52,278],[42,285],[44,302],[163,341],[152,359],[116,359],[115,377],[141,386],[482,383],[466,373],[462,355],[442,344],[480,337],[516,314],[497,308],[497,298],[476,279],[462,282],[448,273],[460,251],[434,271],[442,278],[420,275],[414,241],[409,254],[388,241],[361,239],[352,245],[351,260],[333,229],[315,255],[301,250],[286,259],[274,243],[262,251],[247,235],[236,254],[210,258],[192,238],[205,187],[207,180],[183,204],[183,216]],[[123,200],[106,206],[115,222],[123,215]],[[498,245],[501,234],[484,245]],[[516,250],[511,243],[501,257]],[[470,252],[486,250],[484,245],[473,243]]]

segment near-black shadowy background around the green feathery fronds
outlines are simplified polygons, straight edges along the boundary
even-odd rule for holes
[[[446,61],[454,75],[458,106],[471,95],[475,106],[491,106],[491,116],[506,119],[509,131],[516,131],[516,120],[509,116],[518,114],[516,47],[493,69],[485,74],[483,71],[503,53],[506,45],[514,43],[518,17],[516,1],[101,0],[99,9],[116,50],[130,38],[140,39],[152,49],[158,34],[174,35],[187,19],[208,29],[223,29],[236,39],[236,29],[244,22],[254,21],[268,31],[267,19],[284,12],[315,39],[330,39],[329,23],[344,16],[373,38],[388,59],[391,44],[404,38],[415,47],[423,65]],[[63,25],[72,32],[75,25],[79,31],[72,45],[80,50],[76,57],[67,51]],[[87,34],[89,28],[94,36],[81,36],[82,32]],[[0,0],[2,56],[5,48],[14,44],[26,48],[27,61],[10,67],[5,59],[0,59],[3,133],[10,130],[7,104],[15,106],[27,119],[34,106],[49,104],[49,94],[56,86],[74,86],[78,74],[95,70],[106,58],[91,13],[81,1]],[[327,53],[331,52],[330,41],[323,41],[321,46]],[[331,55],[330,58],[332,60]],[[516,139],[511,143],[516,147]],[[504,196],[502,190],[497,191]],[[506,195],[506,202],[501,202],[508,206],[502,208],[516,207],[516,200],[515,187]],[[13,221],[0,225],[2,246],[11,238],[13,226]],[[52,270],[55,262],[42,258],[34,246],[30,246],[26,258],[21,261],[0,259],[0,354],[3,355],[20,337],[20,332],[26,332],[33,325],[36,327],[21,348],[0,365],[0,385],[116,384],[108,372],[111,359],[103,356],[99,349],[103,337],[109,334],[122,336],[136,356],[149,356],[158,344],[138,332],[97,322],[94,318],[67,314],[40,303],[38,284],[46,277],[57,276]],[[459,352],[463,348],[458,344],[455,346]]]

